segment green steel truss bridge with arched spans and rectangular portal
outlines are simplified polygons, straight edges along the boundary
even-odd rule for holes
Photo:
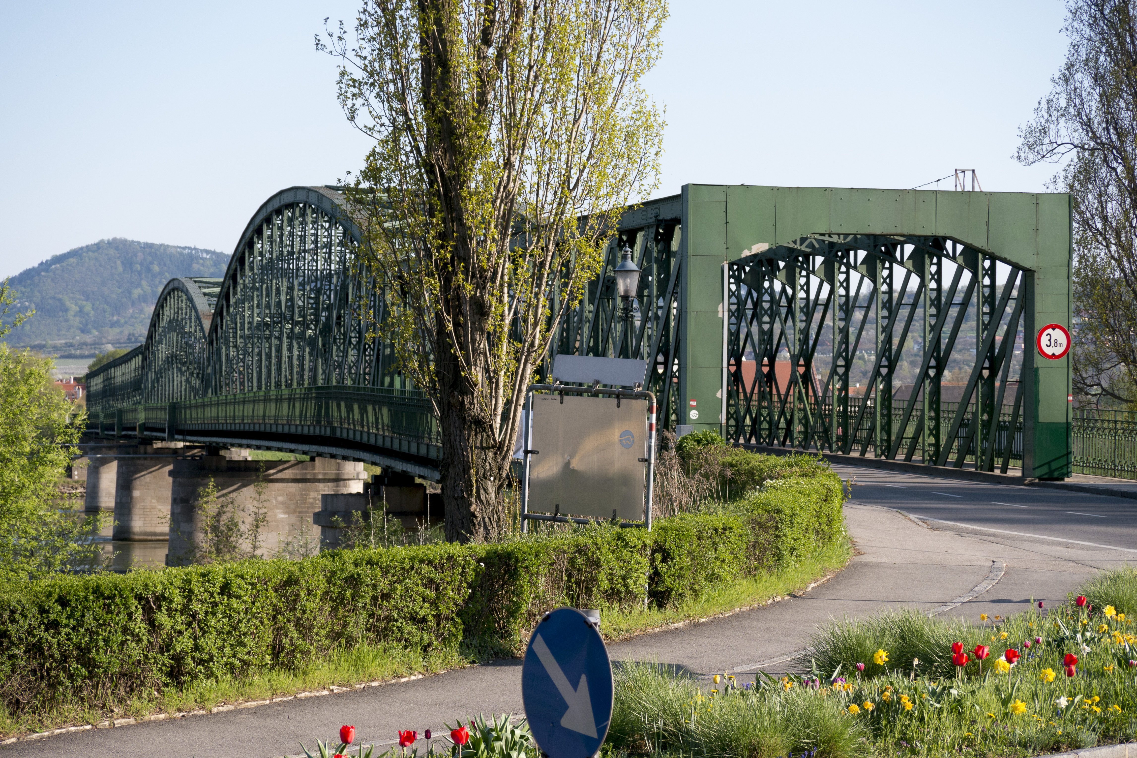
[[[335,188],[274,194],[224,277],[172,280],[146,342],[89,375],[90,432],[437,478],[431,405],[368,335],[384,303],[359,241]],[[624,245],[644,272],[630,328],[612,275]],[[1130,422],[1074,411],[1069,357],[1035,347],[1070,326],[1070,265],[1065,194],[688,184],[623,215],[553,352],[646,359],[671,430],[1137,476],[1135,443],[1118,448]]]

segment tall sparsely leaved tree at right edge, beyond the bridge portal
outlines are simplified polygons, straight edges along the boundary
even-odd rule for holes
[[[1128,0],[1069,0],[1070,40],[1016,158],[1064,164],[1072,197],[1074,391],[1137,402],[1137,25]]]

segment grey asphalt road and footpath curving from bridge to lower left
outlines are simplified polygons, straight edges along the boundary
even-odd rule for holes
[[[763,608],[612,644],[613,660],[665,663],[702,676],[729,670],[745,681],[757,670],[791,669],[792,655],[835,618],[897,607],[966,619],[1007,615],[1035,600],[1061,601],[1098,568],[1137,553],[1137,500],[836,468],[855,476],[845,516],[857,556],[845,570]],[[521,713],[520,673],[520,661],[505,660],[340,694],[20,741],[0,747],[0,758],[296,756],[300,741],[312,749],[314,738],[331,739],[340,724],[385,745],[396,730],[440,732],[476,713]]]

